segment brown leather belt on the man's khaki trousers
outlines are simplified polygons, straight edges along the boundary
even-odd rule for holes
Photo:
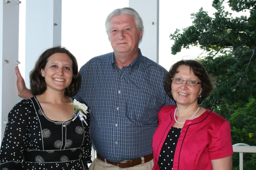
[[[99,160],[105,162],[105,159],[99,153],[97,153],[97,158]],[[153,159],[153,154],[144,156],[144,163],[149,162],[152,159]],[[139,159],[124,161],[124,162],[111,162],[111,161],[106,160],[106,162],[111,165],[118,166],[119,168],[129,168],[129,167],[133,167],[136,165],[140,165],[142,163],[142,159],[139,158]]]

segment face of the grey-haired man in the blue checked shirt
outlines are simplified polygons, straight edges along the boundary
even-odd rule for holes
[[[109,41],[115,53],[132,53],[138,50],[143,31],[138,32],[132,16],[114,16],[108,22],[108,28]]]

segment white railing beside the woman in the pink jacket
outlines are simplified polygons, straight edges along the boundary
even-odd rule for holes
[[[256,146],[238,143],[233,145],[233,152],[239,152],[239,167],[243,170],[243,153],[256,153]]]

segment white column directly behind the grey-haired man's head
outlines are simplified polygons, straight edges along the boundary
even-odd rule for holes
[[[139,44],[142,55],[159,62],[159,0],[129,0],[129,7],[135,9],[144,24],[142,41]]]

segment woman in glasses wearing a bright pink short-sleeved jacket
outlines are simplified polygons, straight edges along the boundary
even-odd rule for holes
[[[177,106],[163,106],[153,136],[153,170],[231,170],[230,123],[199,104],[214,85],[195,60],[175,63],[164,83]]]

